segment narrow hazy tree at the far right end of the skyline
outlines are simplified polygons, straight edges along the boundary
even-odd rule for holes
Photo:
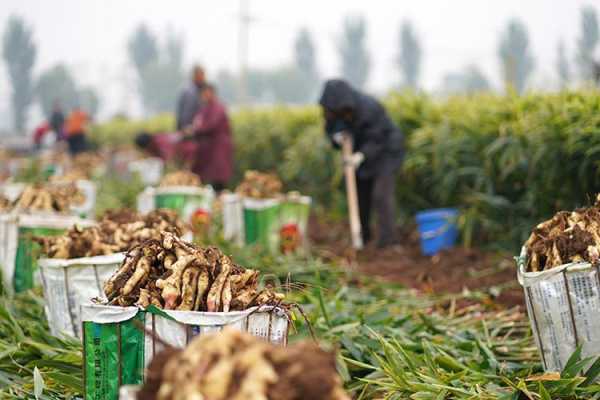
[[[594,50],[598,45],[599,36],[596,10],[591,6],[582,8],[581,33],[577,40],[575,60],[584,80],[591,80],[594,77]]]

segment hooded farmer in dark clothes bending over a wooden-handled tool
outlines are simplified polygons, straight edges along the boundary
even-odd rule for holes
[[[374,205],[379,224],[377,245],[393,244],[396,171],[404,155],[402,133],[377,100],[343,80],[327,81],[319,104],[325,115],[325,131],[334,147],[340,147],[342,132],[352,136],[354,153],[345,162],[357,167],[363,242],[372,239],[370,216]]]

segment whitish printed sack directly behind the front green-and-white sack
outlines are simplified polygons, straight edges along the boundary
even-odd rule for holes
[[[104,283],[118,270],[124,253],[70,260],[38,261],[44,288],[50,332],[81,338],[81,305],[89,299],[105,300]]]

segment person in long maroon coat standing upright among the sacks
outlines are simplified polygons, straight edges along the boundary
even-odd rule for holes
[[[233,140],[225,106],[217,97],[214,86],[207,84],[200,96],[203,107],[190,127],[187,137],[197,143],[198,150],[192,161],[192,171],[202,182],[223,190],[233,173]]]

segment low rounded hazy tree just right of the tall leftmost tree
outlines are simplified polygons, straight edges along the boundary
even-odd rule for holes
[[[41,73],[35,93],[46,117],[52,114],[52,107],[58,101],[64,111],[68,111],[79,103],[77,84],[69,68],[63,64],[56,65]]]

